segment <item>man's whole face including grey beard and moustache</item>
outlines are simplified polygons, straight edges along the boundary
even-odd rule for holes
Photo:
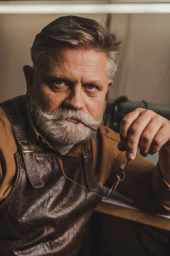
[[[102,52],[64,48],[50,58],[48,68],[35,73],[28,88],[29,105],[48,138],[79,143],[93,135],[94,131],[77,120],[93,128],[101,124],[105,95],[112,84],[106,67],[107,57]],[[26,79],[29,84],[27,75]]]

